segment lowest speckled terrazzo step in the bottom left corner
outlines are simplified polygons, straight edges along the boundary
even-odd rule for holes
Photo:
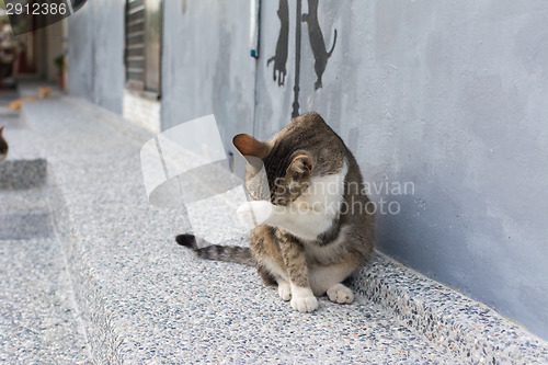
[[[0,239],[0,363],[89,364],[55,237]]]

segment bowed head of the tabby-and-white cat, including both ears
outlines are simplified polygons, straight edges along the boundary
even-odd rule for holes
[[[333,136],[335,140],[333,140]],[[340,139],[317,113],[298,116],[266,141],[246,134],[232,142],[247,160],[246,187],[254,199],[287,205],[310,185],[310,179],[336,160]],[[328,151],[328,153],[326,153]]]

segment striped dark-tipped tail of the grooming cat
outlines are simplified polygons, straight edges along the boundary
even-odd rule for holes
[[[255,265],[255,260],[247,247],[208,244],[199,248],[194,235],[179,235],[175,237],[175,241],[196,252],[196,255],[201,259],[236,262],[250,266]]]

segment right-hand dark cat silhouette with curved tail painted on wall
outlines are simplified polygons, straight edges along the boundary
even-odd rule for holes
[[[326,42],[321,33],[320,23],[318,22],[318,0],[308,0],[308,14],[302,14],[302,22],[308,24],[308,38],[313,54],[313,69],[316,71],[315,89],[322,87],[321,77],[328,66],[328,59],[333,54],[336,44],[336,30],[334,31],[333,45],[331,50],[326,49]]]

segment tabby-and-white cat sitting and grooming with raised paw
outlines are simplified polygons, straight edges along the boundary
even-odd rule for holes
[[[351,304],[343,282],[372,255],[375,216],[343,140],[319,114],[307,113],[265,142],[244,134],[232,141],[247,159],[244,184],[253,199],[238,215],[254,226],[250,247],[198,248],[193,235],[178,236],[178,243],[203,259],[255,265],[263,282],[277,285],[282,299],[300,312],[316,310],[317,296],[326,293],[331,301]]]

